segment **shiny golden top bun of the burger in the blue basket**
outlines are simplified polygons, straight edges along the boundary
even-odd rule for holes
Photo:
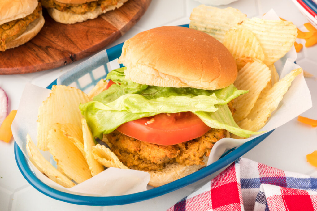
[[[221,89],[237,77],[235,59],[212,36],[195,29],[163,26],[141,32],[122,47],[126,78],[140,84]]]

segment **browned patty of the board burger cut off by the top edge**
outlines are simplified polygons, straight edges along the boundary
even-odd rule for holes
[[[94,11],[98,6],[105,10],[108,6],[117,5],[118,0],[98,0],[83,4],[66,4],[55,0],[41,0],[43,7],[54,8],[61,12],[70,12],[74,14],[85,14]]]

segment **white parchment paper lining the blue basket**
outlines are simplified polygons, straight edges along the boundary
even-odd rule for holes
[[[265,19],[278,19],[278,16],[273,10],[266,13]],[[294,64],[296,52],[294,47],[283,58],[275,63],[275,67],[283,78],[291,70],[299,68]],[[32,140],[36,143],[36,128],[38,108],[42,102],[49,96],[50,90],[26,84],[22,98],[20,100],[16,118],[12,123],[13,137],[29,161],[29,156],[26,151],[26,135],[30,134]],[[275,129],[291,119],[297,117],[307,109],[312,107],[311,96],[301,73],[292,82],[288,92],[284,95],[279,108],[271,115],[267,124],[261,131],[270,131]],[[259,136],[259,135],[257,135]],[[208,165],[215,162],[228,149],[254,139],[253,136],[249,139],[222,139],[219,140],[212,148],[208,160]],[[50,160],[49,152],[42,152],[44,157]],[[54,163],[54,162],[52,162]],[[147,183],[150,180],[150,175],[147,172],[108,168],[97,176],[94,176],[87,181],[80,183],[70,189],[64,188],[61,185],[51,181],[48,177],[37,170],[31,162],[29,162],[36,176],[45,184],[52,188],[77,195],[94,195],[94,196],[115,196],[137,193],[147,190]]]

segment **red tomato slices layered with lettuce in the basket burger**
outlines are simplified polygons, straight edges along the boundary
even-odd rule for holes
[[[109,81],[107,90],[113,81]],[[159,145],[174,145],[204,135],[208,127],[190,111],[176,114],[158,114],[126,122],[117,128],[132,138]]]

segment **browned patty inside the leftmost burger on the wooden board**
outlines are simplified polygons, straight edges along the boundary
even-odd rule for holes
[[[40,11],[42,10],[39,3],[33,13],[24,18],[19,18],[0,25],[0,51],[6,49],[6,43],[15,40],[21,34],[25,32],[29,24],[40,17]]]

